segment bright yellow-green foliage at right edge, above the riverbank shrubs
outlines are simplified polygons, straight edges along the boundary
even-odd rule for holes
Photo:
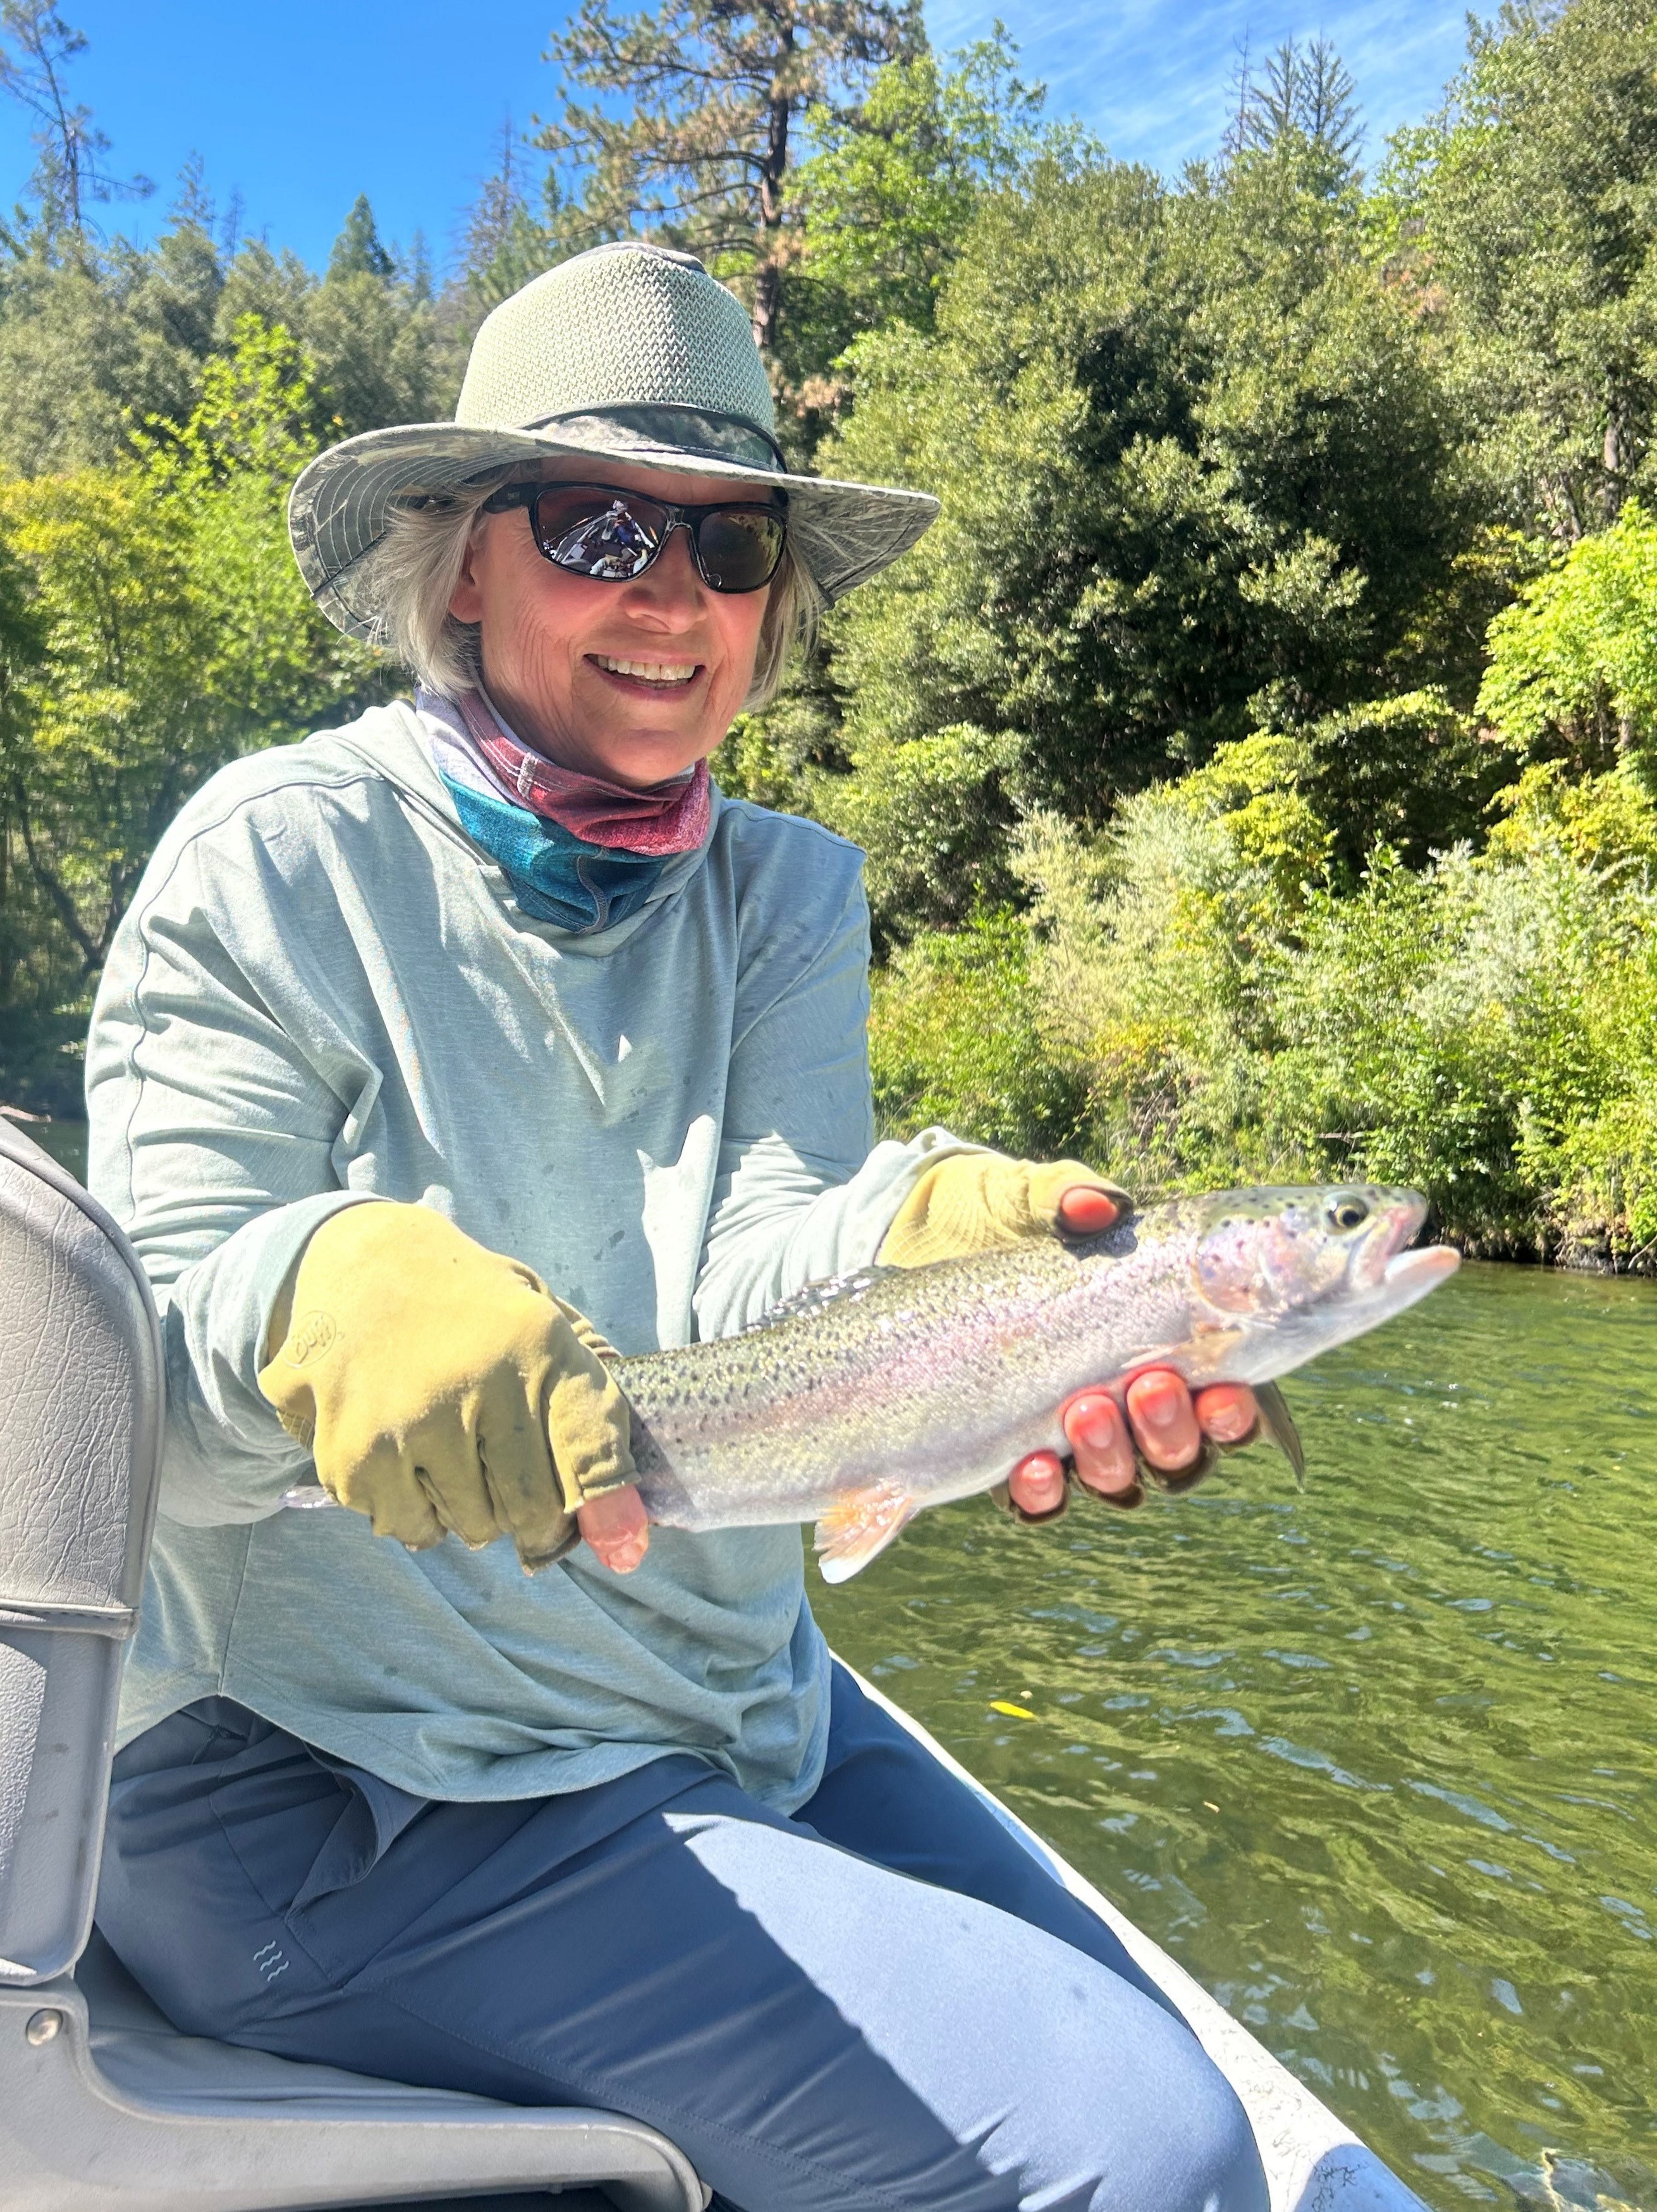
[[[1491,624],[1478,695],[1509,745],[1577,772],[1637,763],[1657,785],[1657,522],[1628,500]]]

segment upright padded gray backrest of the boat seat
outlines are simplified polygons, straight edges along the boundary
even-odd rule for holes
[[[0,1117],[0,1986],[86,1944],[159,1453],[137,1256]]]

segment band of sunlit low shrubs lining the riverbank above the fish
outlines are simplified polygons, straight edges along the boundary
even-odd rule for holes
[[[1301,765],[1285,739],[1223,748],[1093,841],[1029,816],[1031,905],[978,927],[973,1004],[967,938],[916,940],[878,991],[894,1126],[1029,1146],[1009,1097],[1060,1097],[1142,1192],[1409,1183],[1473,1252],[1650,1265],[1653,803],[1626,772],[1584,796],[1538,770],[1487,854],[1376,847],[1341,891]],[[1015,1093],[980,1077],[991,1033]]]

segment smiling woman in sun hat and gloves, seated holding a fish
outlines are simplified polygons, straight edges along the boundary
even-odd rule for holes
[[[799,1531],[646,1528],[604,1365],[1115,1212],[874,1146],[858,854],[708,781],[931,513],[785,476],[741,307],[642,246],[301,478],[319,602],[423,688],[199,792],[93,1018],[170,1394],[100,1922],[192,2033],[626,2110],[754,2212],[1261,2212],[1184,2022],[832,1666]],[[1066,1411],[1117,1502],[1252,1422]]]

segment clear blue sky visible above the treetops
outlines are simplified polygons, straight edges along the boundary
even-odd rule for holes
[[[557,0],[64,0],[86,31],[73,69],[113,139],[117,173],[144,170],[157,195],[106,210],[135,237],[164,219],[179,166],[199,153],[208,190],[241,195],[250,232],[308,261],[327,248],[358,192],[381,232],[423,230],[438,265],[462,210],[496,166],[502,119],[518,128],[551,104],[540,55]],[[938,46],[982,38],[998,13],[1051,111],[1075,113],[1113,153],[1177,170],[1226,124],[1243,35],[1259,53],[1323,31],[1347,60],[1369,150],[1436,106],[1465,49],[1456,0],[931,0]],[[0,204],[29,173],[27,122],[0,113]]]

